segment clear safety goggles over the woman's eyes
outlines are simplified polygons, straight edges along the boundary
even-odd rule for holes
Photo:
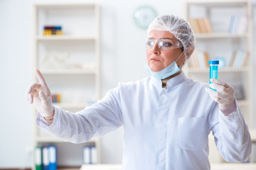
[[[172,50],[183,47],[181,42],[179,42],[178,40],[172,40],[171,38],[161,38],[159,40],[149,38],[146,41],[146,49],[152,50],[156,43],[161,50]]]

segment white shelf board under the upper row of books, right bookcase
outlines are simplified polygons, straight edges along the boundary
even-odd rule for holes
[[[247,33],[195,33],[196,38],[249,38]]]

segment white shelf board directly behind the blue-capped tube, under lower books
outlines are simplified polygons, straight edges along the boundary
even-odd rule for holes
[[[233,67],[225,67],[223,69],[218,69],[218,72],[248,72],[248,67],[242,68],[233,68]],[[188,73],[208,73],[209,68],[186,68],[186,72]]]

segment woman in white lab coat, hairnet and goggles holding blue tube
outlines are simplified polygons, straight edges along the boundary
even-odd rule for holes
[[[226,161],[245,161],[252,144],[233,87],[213,79],[213,91],[181,71],[194,45],[188,22],[169,15],[155,18],[146,42],[145,67],[151,77],[120,83],[75,114],[53,106],[46,81],[36,69],[39,83],[29,86],[27,98],[38,111],[37,125],[75,143],[123,125],[126,170],[210,169],[210,130]]]

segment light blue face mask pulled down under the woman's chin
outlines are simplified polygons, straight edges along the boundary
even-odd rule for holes
[[[181,53],[181,55],[182,54],[183,54],[183,52]],[[178,56],[178,59],[179,59],[179,57],[181,57],[181,55]],[[153,72],[149,68],[148,64],[145,65],[145,68],[152,77],[155,77],[156,79],[165,79],[166,77],[170,77],[171,75],[174,75],[174,74],[176,74],[177,72],[179,72],[181,70],[181,67],[178,67],[178,65],[176,64],[176,61],[172,62],[171,64],[169,64],[168,67],[166,67],[165,69],[160,70],[159,72]]]

